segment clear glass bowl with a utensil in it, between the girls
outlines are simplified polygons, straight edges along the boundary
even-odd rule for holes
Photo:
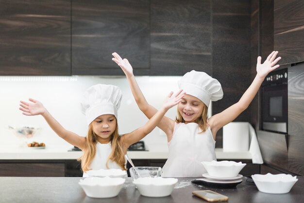
[[[161,167],[135,167],[135,169],[133,167],[130,169],[130,175],[133,181],[137,178],[160,177],[162,171]]]

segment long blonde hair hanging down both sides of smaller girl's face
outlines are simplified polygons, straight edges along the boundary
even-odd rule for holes
[[[95,154],[96,154],[96,144],[97,144],[97,136],[92,127],[92,123],[90,123],[87,135],[85,137],[86,139],[86,145],[84,147],[84,152],[83,155],[78,159],[78,161],[81,161],[81,169],[86,172],[88,170],[91,170],[89,168]],[[122,170],[125,169],[125,158],[124,158],[124,153],[122,151],[121,147],[121,138],[118,134],[118,123],[116,119],[116,127],[114,133],[110,137],[110,143],[111,143],[111,148],[112,151],[107,158],[106,161],[106,168],[109,169],[108,167],[108,161],[114,161],[116,162]]]

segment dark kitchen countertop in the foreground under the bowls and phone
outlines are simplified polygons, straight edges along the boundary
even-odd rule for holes
[[[191,194],[194,190],[211,189],[229,197],[230,203],[300,203],[303,202],[304,177],[287,194],[267,194],[252,183],[243,181],[234,189],[215,189],[197,186],[194,178],[179,178],[172,194],[149,198],[139,194],[131,178],[127,178],[117,197],[94,199],[85,195],[78,182],[81,178],[0,177],[0,203],[203,203]]]

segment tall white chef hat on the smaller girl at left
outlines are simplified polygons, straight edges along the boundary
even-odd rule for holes
[[[98,84],[88,88],[81,101],[81,110],[87,124],[104,114],[113,114],[117,118],[121,98],[122,94],[118,86]]]

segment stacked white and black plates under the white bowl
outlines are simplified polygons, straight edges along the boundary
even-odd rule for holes
[[[193,180],[192,183],[215,188],[233,188],[243,181],[241,174],[238,174],[236,177],[222,178],[204,173],[203,177],[204,178]]]

